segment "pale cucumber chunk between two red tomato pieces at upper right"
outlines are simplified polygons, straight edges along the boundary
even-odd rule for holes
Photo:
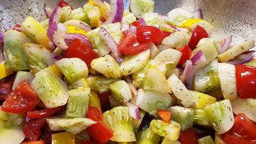
[[[165,37],[162,44],[171,45],[175,48],[180,48],[188,45],[192,33],[188,31],[181,31],[171,33],[170,36]]]

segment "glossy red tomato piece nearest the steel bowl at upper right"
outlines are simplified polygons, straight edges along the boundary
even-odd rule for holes
[[[202,38],[208,38],[208,33],[205,31],[205,29],[201,26],[196,26],[192,31],[192,36],[190,38],[188,46],[193,51]]]

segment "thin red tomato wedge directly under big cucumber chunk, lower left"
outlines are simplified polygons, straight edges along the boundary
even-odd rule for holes
[[[55,107],[55,108],[45,108],[43,110],[39,111],[29,111],[27,112],[27,117],[28,118],[43,118],[43,117],[48,117],[56,112],[60,111],[63,106]]]

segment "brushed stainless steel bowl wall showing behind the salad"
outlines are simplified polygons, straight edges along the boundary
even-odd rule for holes
[[[85,0],[67,0],[73,8],[82,7]],[[4,32],[21,23],[31,15],[38,21],[45,18],[43,7],[55,7],[57,0],[1,0],[0,31]],[[129,1],[125,1],[129,8]],[[256,1],[255,0],[155,0],[155,12],[166,14],[174,8],[185,8],[191,12],[201,8],[206,21],[215,32],[224,37],[233,35],[233,43],[246,39],[256,39]]]

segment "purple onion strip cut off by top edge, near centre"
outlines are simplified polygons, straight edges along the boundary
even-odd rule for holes
[[[104,24],[121,22],[124,14],[124,1],[123,0],[110,0],[110,16],[106,19]]]

